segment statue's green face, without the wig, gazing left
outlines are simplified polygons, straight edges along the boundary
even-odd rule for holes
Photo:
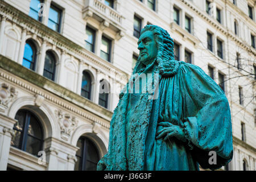
[[[158,54],[158,47],[152,31],[143,32],[139,37],[138,49],[142,64],[148,65],[154,61]]]

